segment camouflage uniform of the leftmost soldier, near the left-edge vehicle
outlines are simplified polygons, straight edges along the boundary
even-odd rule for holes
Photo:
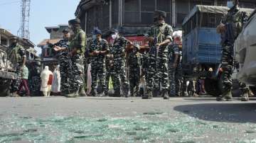
[[[26,57],[26,50],[21,45],[11,45],[8,50],[8,57],[10,62],[14,65],[14,68],[16,69],[16,74],[18,76],[18,79],[13,79],[11,82],[11,93],[15,93],[16,91],[18,91],[18,86],[20,84],[20,68],[22,64],[22,58]]]

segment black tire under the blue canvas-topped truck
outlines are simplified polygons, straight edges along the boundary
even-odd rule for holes
[[[219,88],[219,81],[215,79],[205,79],[205,90],[209,96],[220,96],[221,90]]]

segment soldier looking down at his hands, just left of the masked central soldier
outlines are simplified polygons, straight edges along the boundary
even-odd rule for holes
[[[92,75],[92,90],[90,96],[96,96],[95,88],[98,85],[97,96],[105,96],[105,74],[106,65],[105,59],[107,52],[109,51],[108,42],[102,39],[102,32],[100,29],[95,28],[92,31],[92,42],[89,46],[90,64],[91,64],[91,75]],[[97,77],[99,82],[97,84]]]

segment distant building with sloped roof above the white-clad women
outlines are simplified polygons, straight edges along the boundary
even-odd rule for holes
[[[48,46],[48,42],[54,45],[59,40],[63,39],[63,30],[65,28],[68,28],[68,25],[46,27],[47,32],[50,34],[50,38],[45,39],[38,44],[38,47],[41,47],[42,50],[41,59],[43,67],[49,66],[52,71],[54,69],[54,66],[58,64],[58,61],[55,58],[55,53],[53,49]]]

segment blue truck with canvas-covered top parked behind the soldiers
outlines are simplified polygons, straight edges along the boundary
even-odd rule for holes
[[[187,79],[205,79],[205,90],[210,96],[219,96],[225,89],[220,76],[222,47],[216,27],[228,13],[225,6],[196,5],[184,18],[182,43],[183,76]],[[253,9],[241,8],[252,13]]]

